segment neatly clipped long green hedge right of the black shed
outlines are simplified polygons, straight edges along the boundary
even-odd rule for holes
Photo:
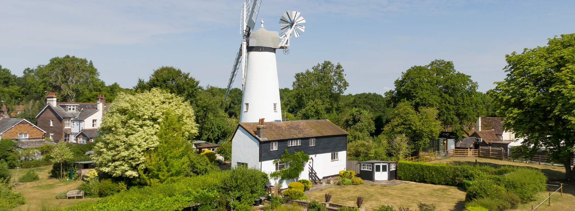
[[[397,177],[401,180],[438,185],[457,186],[463,180],[473,180],[486,175],[484,171],[466,165],[454,166],[400,161],[397,167]]]

